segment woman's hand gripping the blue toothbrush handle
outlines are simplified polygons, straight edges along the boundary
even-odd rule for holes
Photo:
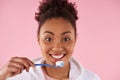
[[[0,70],[0,80],[5,80],[7,77],[12,77],[20,74],[24,69],[29,71],[30,67],[34,67],[34,63],[25,57],[13,57]]]

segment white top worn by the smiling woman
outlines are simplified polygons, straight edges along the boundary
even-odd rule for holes
[[[35,64],[44,63],[44,58],[33,60]],[[40,66],[30,68],[29,72],[24,70],[21,74],[10,77],[7,80],[46,80],[45,73]],[[83,68],[75,59],[70,59],[69,80],[100,80],[97,74]]]

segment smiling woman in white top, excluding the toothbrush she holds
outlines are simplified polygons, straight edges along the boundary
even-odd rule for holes
[[[35,19],[39,23],[37,37],[43,58],[29,60],[13,57],[0,71],[0,80],[100,80],[71,58],[76,42],[77,11],[67,0],[43,0]],[[35,66],[55,65],[63,67]]]

